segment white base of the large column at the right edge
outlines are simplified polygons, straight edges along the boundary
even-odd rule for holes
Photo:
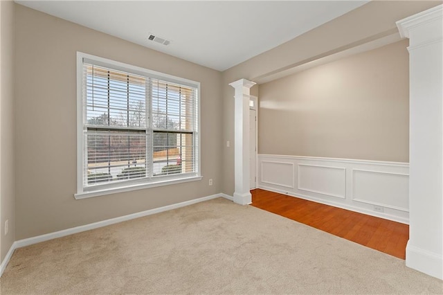
[[[443,256],[406,244],[406,266],[443,280]]]

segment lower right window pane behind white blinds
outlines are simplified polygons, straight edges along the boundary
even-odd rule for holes
[[[154,176],[195,172],[193,134],[154,132],[153,136]]]

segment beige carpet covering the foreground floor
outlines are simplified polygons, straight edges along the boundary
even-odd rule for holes
[[[442,294],[404,260],[213,199],[17,249],[1,294]]]

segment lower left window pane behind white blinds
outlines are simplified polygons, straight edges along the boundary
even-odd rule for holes
[[[89,130],[86,141],[88,186],[149,175],[145,133]]]

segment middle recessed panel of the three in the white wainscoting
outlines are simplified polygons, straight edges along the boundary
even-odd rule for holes
[[[346,168],[298,164],[297,188],[345,199]]]

